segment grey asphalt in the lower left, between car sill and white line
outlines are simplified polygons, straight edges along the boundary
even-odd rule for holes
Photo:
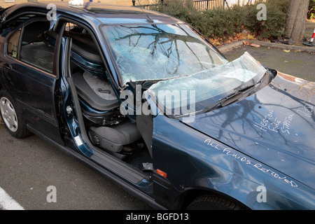
[[[0,142],[0,211],[4,203],[1,188],[25,210],[151,209],[36,135],[15,139],[1,125]],[[50,186],[56,189],[55,202],[48,200]]]

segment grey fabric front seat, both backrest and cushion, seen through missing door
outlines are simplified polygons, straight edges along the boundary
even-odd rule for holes
[[[119,106],[118,98],[109,83],[86,71],[73,73],[72,77],[78,95],[94,109],[109,111]],[[99,89],[102,91],[99,92]],[[119,153],[123,146],[141,139],[137,125],[131,122],[116,126],[91,126],[89,135],[94,146],[114,153]]]

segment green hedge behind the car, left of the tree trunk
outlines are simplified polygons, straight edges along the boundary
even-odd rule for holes
[[[157,8],[195,27],[208,38],[226,38],[250,31],[258,38],[278,38],[285,34],[286,14],[290,0],[266,0],[230,9],[200,11],[193,7],[192,0],[165,0],[166,6]],[[258,3],[265,3],[267,20],[257,19]]]

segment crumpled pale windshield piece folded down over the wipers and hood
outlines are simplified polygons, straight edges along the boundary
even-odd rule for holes
[[[267,69],[248,52],[232,62],[207,69],[190,76],[161,80],[147,92],[158,99],[159,107],[174,115],[202,111],[228,97],[241,87],[258,84]]]

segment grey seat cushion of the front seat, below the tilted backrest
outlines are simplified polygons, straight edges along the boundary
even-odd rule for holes
[[[115,127],[90,127],[89,134],[92,144],[114,153],[119,153],[123,146],[141,139],[134,123],[123,123]]]

